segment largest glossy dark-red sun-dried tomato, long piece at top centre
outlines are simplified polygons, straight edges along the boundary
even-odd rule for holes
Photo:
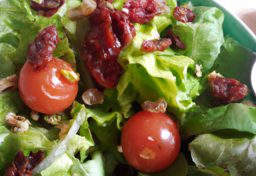
[[[89,20],[91,28],[84,38],[82,55],[86,69],[102,86],[115,88],[123,71],[117,58],[132,42],[135,28],[126,12],[111,9],[104,2],[97,2]]]

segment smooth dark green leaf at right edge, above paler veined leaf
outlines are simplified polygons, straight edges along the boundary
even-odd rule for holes
[[[232,103],[203,112],[190,112],[180,121],[179,126],[182,139],[223,129],[256,134],[256,109]]]

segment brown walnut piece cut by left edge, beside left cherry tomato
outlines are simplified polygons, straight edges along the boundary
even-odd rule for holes
[[[18,76],[16,74],[0,80],[0,94],[7,90],[16,90],[18,88]]]

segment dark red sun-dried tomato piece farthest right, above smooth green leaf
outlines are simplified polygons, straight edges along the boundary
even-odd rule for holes
[[[214,96],[214,103],[220,106],[230,104],[247,94],[247,86],[240,84],[235,79],[215,77],[209,78],[209,82],[212,88],[212,96]]]

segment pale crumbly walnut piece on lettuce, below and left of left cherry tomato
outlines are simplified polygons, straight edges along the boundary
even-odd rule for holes
[[[8,112],[5,116],[4,121],[12,126],[13,132],[24,133],[31,126],[31,123],[28,119],[22,116],[16,116],[13,112]]]

